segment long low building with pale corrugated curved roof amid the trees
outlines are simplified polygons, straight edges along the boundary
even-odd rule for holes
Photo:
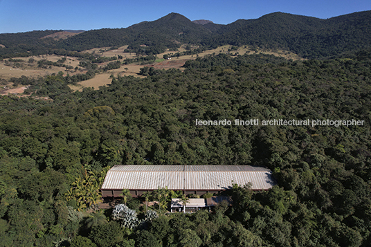
[[[276,184],[272,171],[251,165],[115,165],[102,185],[102,197],[120,197],[123,189],[132,196],[168,187],[184,194],[230,190],[234,183],[251,183],[252,190],[269,190]]]

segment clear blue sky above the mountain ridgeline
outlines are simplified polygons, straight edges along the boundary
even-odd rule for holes
[[[326,19],[364,10],[370,0],[0,0],[0,33],[126,28],[170,12],[229,24],[277,11]]]

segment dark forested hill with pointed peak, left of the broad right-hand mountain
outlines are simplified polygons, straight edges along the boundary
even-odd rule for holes
[[[177,13],[156,21],[143,21],[128,28],[90,30],[60,42],[60,48],[83,51],[104,46],[123,46],[135,52],[161,53],[181,43],[200,42],[211,32]]]

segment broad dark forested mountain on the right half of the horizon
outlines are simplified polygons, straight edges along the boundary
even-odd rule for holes
[[[214,32],[205,44],[286,48],[309,58],[371,47],[371,11],[331,19],[275,12],[225,26],[205,26]]]

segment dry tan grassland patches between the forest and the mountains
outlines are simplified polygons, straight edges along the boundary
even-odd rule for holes
[[[123,56],[123,59],[120,60],[123,62],[123,60],[127,58],[134,58],[136,57],[135,53],[124,53],[127,46],[121,46],[120,48],[117,48],[115,50],[111,50],[111,48],[93,48],[91,50],[83,51],[83,53],[95,53],[100,54],[103,57],[113,57],[117,55]],[[178,49],[179,52],[186,51],[185,45],[181,46]],[[165,53],[158,54],[158,59],[153,64],[148,64],[145,66],[152,66],[157,69],[168,69],[168,68],[180,68],[185,64],[187,60],[195,60],[197,57],[204,57],[206,55],[210,55],[212,53],[219,54],[219,53],[225,53],[230,55],[244,55],[244,54],[257,54],[257,53],[264,53],[264,54],[271,54],[278,57],[284,57],[287,59],[292,60],[302,60],[301,57],[298,57],[298,55],[291,53],[289,51],[283,51],[283,50],[277,50],[277,51],[262,51],[259,49],[253,49],[249,46],[241,46],[239,48],[232,50],[232,46],[226,45],[226,46],[219,46],[218,48],[204,51],[203,53],[199,53],[197,55],[185,55],[180,57],[172,57],[171,60],[164,60],[163,55],[171,53],[177,53],[178,51],[166,51]],[[58,67],[58,66],[51,66],[51,68],[38,68],[37,67],[37,61],[39,60],[48,60],[51,62],[57,62],[57,60],[60,60],[62,56],[57,55],[42,55],[42,56],[34,56],[34,57],[19,57],[15,58],[15,60],[23,60],[23,62],[18,62],[18,64],[15,64],[16,62],[7,62],[7,60],[0,61],[0,80],[2,79],[2,84],[6,85],[8,90],[15,90],[12,88],[12,85],[9,84],[8,80],[11,77],[21,77],[21,75],[25,75],[27,77],[38,77],[38,76],[45,76],[45,75],[51,75],[52,73],[59,73],[62,71],[65,75],[66,73],[69,73],[70,75],[73,75],[75,73],[82,73],[82,71],[66,71],[66,68],[64,67]],[[67,60],[64,62],[64,64],[73,66],[75,68],[79,64],[79,60],[75,57],[66,57]],[[33,59],[34,62],[30,63],[28,60]],[[98,64],[98,66],[105,66],[105,64],[108,64],[109,62],[105,62],[102,64]],[[17,66],[15,66],[17,65]],[[120,75],[120,76],[128,76],[133,75],[135,77],[144,77],[143,75],[139,75],[140,68],[143,67],[141,64],[123,64],[121,68],[117,68],[114,70],[107,71],[107,73],[101,73],[96,75],[96,77],[86,80],[83,82],[79,82],[77,85],[71,85],[70,88],[73,89],[73,91],[81,91],[84,87],[93,87],[94,89],[98,90],[99,86],[106,86],[107,84],[111,83],[110,75]],[[21,89],[18,89],[17,92],[20,92]],[[1,93],[6,93],[6,90],[2,90]],[[9,91],[10,93],[10,91]]]

